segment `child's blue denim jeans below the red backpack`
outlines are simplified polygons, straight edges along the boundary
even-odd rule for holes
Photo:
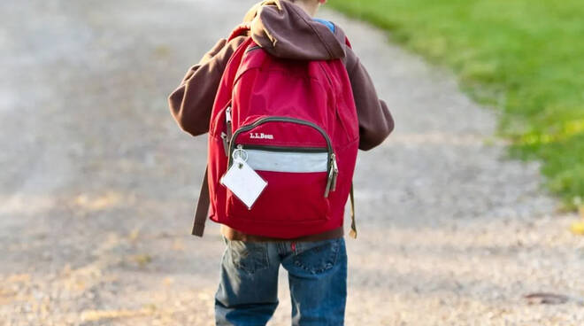
[[[218,326],[263,326],[278,307],[278,270],[288,270],[292,325],[342,326],[347,299],[344,239],[229,241],[215,295]]]

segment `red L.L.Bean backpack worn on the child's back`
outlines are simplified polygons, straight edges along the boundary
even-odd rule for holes
[[[238,27],[229,39],[247,30]],[[215,97],[208,187],[204,184],[199,197],[193,235],[203,235],[207,216],[264,237],[303,237],[341,227],[349,195],[353,204],[358,131],[341,59],[276,58],[248,37],[229,59]],[[234,151],[243,152],[267,182],[251,208],[220,182]],[[205,200],[209,194],[211,209]],[[351,217],[356,237],[352,206]]]

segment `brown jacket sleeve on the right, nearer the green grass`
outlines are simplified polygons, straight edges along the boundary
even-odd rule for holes
[[[347,48],[347,72],[357,106],[359,149],[369,151],[383,143],[394,129],[388,105],[377,96],[371,77],[355,53]]]

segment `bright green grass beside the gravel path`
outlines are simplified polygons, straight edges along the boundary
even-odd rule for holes
[[[511,153],[540,159],[567,208],[584,198],[581,0],[330,0],[392,40],[449,66],[461,88],[499,108]]]

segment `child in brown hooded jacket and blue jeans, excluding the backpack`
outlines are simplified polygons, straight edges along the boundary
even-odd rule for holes
[[[394,128],[387,105],[371,78],[345,43],[342,29],[312,19],[326,0],[271,0],[245,16],[250,36],[267,53],[289,60],[342,59],[349,74],[358,117],[358,147],[381,144]],[[192,136],[209,131],[219,82],[227,61],[248,39],[220,40],[193,66],[169,97],[174,119]],[[195,229],[202,232],[202,225]],[[219,290],[215,296],[217,325],[265,325],[278,306],[280,264],[288,270],[294,325],[342,325],[347,295],[347,255],[342,226],[293,239],[260,237],[221,225],[227,245]]]

